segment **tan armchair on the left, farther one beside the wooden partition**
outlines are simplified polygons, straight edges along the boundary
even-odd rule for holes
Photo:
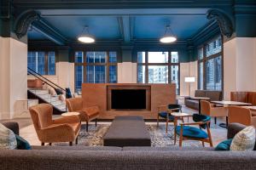
[[[81,121],[86,122],[86,131],[91,120],[95,120],[97,126],[97,117],[100,115],[98,106],[84,108],[82,98],[66,99],[68,111],[76,111],[80,113]]]

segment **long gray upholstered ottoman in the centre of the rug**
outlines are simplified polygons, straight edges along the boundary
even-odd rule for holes
[[[103,137],[104,146],[151,146],[142,116],[116,116]]]

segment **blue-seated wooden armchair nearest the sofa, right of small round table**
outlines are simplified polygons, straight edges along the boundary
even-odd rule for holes
[[[212,136],[210,131],[211,117],[201,114],[193,115],[194,122],[183,122],[175,127],[174,144],[176,144],[176,135],[179,135],[179,147],[182,147],[183,140],[199,140],[205,146],[205,142],[212,147]],[[199,127],[192,127],[198,125]],[[207,133],[201,128],[207,128]]]

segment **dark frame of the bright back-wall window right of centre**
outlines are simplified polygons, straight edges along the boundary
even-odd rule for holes
[[[179,53],[177,50],[163,50],[163,51],[148,51],[148,50],[139,50],[136,52],[136,55],[138,52],[145,52],[145,62],[144,63],[138,63],[137,62],[137,83],[143,83],[143,82],[138,82],[138,68],[139,66],[145,66],[145,84],[148,84],[148,66],[150,65],[153,65],[153,66],[167,66],[168,67],[168,81],[167,81],[167,84],[172,84],[172,66],[178,66],[178,74],[177,74],[177,77],[178,77],[178,94],[180,94],[180,59],[178,59],[178,62],[177,63],[172,63],[172,52],[177,52],[178,56],[179,56]],[[148,52],[167,52],[168,53],[168,62],[167,63],[148,63]],[[137,57],[136,57],[137,59]],[[176,83],[175,83],[176,84]]]

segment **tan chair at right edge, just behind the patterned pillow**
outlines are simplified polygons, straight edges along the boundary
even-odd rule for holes
[[[243,125],[256,127],[256,116],[252,116],[250,109],[241,106],[228,106],[229,123],[239,122]]]

